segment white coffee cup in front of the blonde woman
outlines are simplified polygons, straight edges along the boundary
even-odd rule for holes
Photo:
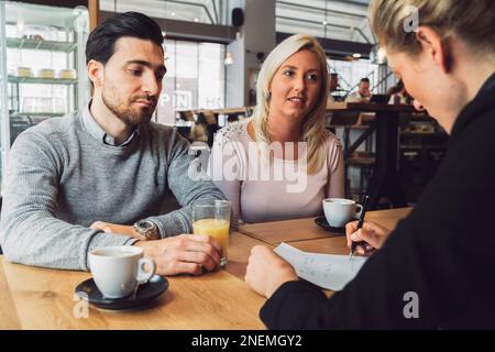
[[[328,223],[333,228],[342,228],[348,222],[355,220],[363,211],[363,206],[351,199],[327,198],[323,199],[323,212]]]

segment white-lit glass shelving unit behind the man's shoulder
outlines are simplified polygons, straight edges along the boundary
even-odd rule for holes
[[[84,52],[89,13],[85,8],[0,0],[0,14],[3,174],[10,146],[22,131],[50,118],[64,118],[89,98]],[[20,67],[28,67],[30,75],[19,75]],[[54,76],[40,77],[42,69],[53,69]],[[74,79],[59,78],[62,69],[74,70]]]

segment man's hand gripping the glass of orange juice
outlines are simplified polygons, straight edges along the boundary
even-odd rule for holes
[[[156,241],[138,241],[144,256],[156,263],[156,274],[199,275],[215,271],[220,264],[222,248],[209,235],[180,234]]]

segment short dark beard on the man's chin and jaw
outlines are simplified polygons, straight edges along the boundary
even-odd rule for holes
[[[116,89],[105,89],[101,94],[101,98],[107,108],[123,123],[129,125],[146,124],[153,117],[153,112],[156,108],[155,98],[153,96],[135,96],[129,99],[128,103],[124,103],[122,99],[117,95]],[[154,102],[150,107],[142,107],[139,109],[132,109],[132,103],[136,100],[146,100]]]

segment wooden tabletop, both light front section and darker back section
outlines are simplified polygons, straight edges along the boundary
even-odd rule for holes
[[[366,219],[393,229],[398,219],[409,211],[409,208],[370,211]],[[297,231],[285,233],[284,229],[292,230],[295,223],[299,226]],[[264,329],[258,311],[265,299],[243,282],[253,245],[271,245],[268,243],[272,241],[273,246],[280,240],[307,252],[349,252],[343,235],[318,237],[319,228],[312,219],[280,221],[277,224],[255,224],[255,230],[261,232],[256,237],[261,239],[233,232],[226,270],[197,277],[167,277],[170,286],[166,293],[146,307],[127,311],[81,306],[86,302],[75,297],[74,288],[89,278],[90,273],[12,264],[0,255],[0,330]],[[306,235],[308,231],[312,233],[309,237]],[[78,318],[77,312],[80,316],[84,307],[87,307],[88,317]]]

